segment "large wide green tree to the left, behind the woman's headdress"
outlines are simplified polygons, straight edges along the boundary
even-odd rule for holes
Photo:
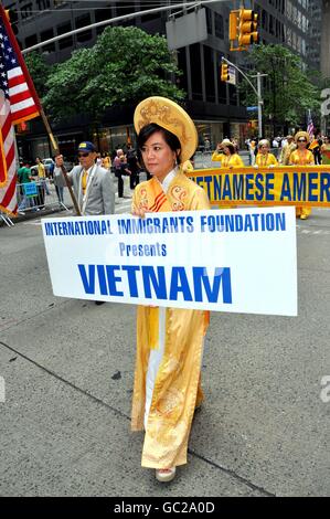
[[[163,36],[107,28],[92,49],[75,51],[56,65],[47,80],[45,106],[53,119],[83,112],[97,121],[106,108],[151,95],[183,99],[185,93],[169,81],[179,74]]]

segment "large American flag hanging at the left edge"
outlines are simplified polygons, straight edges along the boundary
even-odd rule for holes
[[[13,125],[36,117],[40,102],[0,4],[0,211],[17,213]]]

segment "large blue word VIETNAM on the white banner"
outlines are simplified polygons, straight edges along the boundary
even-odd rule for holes
[[[97,296],[123,297],[120,283],[128,282],[130,297],[146,299],[155,297],[159,300],[209,301],[231,305],[232,280],[230,267],[216,267],[210,275],[206,267],[191,267],[192,285],[189,282],[187,268],[182,266],[169,267],[169,287],[167,285],[166,268],[150,265],[83,265],[78,264],[78,272],[85,294]],[[138,284],[138,276],[140,285]],[[99,289],[96,290],[96,282]],[[141,287],[139,293],[139,286]],[[222,287],[222,292],[221,292]]]

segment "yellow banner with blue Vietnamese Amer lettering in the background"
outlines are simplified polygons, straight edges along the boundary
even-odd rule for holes
[[[199,169],[189,177],[212,205],[330,206],[330,166]]]

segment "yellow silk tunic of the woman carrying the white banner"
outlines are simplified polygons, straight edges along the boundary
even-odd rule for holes
[[[205,191],[179,172],[167,194],[152,178],[138,184],[132,211],[184,211],[210,209]],[[177,246],[180,246],[180,237]],[[131,410],[131,430],[143,428],[146,375],[150,354],[150,307],[137,314],[137,357]],[[168,468],[187,463],[188,439],[195,405],[203,400],[200,388],[202,349],[209,313],[166,309],[164,353],[158,369],[145,435],[141,465]]]

